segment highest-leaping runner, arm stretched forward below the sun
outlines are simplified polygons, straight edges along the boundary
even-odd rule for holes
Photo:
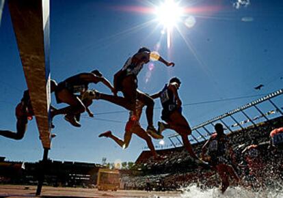
[[[154,102],[152,98],[144,94],[142,91],[137,91],[137,75],[142,70],[145,63],[150,61],[150,57],[154,57],[165,66],[174,66],[174,63],[165,61],[157,53],[152,53],[148,48],[139,48],[139,51],[129,57],[123,68],[114,75],[114,88],[117,94],[118,91],[122,91],[124,98],[120,98],[120,102],[128,103],[131,105],[131,111],[133,116],[136,116],[135,101],[139,100],[146,105],[146,118],[148,121],[147,132],[157,133],[157,130],[153,126],[153,107]]]

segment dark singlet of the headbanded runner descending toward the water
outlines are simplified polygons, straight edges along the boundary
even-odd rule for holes
[[[165,85],[160,94],[160,102],[166,111],[174,111],[177,107],[176,98],[173,92],[168,89],[169,85]]]

